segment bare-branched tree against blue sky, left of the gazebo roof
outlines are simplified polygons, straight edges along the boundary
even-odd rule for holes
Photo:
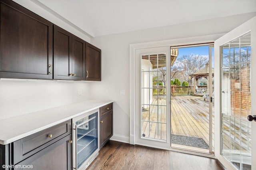
[[[183,55],[177,58],[171,68],[171,79],[179,78],[189,81],[189,75],[205,67],[208,55]]]

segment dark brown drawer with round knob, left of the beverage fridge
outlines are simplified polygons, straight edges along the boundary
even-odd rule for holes
[[[28,158],[71,133],[71,120],[47,128],[14,142],[14,164]]]

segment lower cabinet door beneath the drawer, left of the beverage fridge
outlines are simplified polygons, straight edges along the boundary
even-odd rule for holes
[[[71,170],[72,169],[72,134],[58,140],[40,152],[30,156],[14,166],[14,170]]]

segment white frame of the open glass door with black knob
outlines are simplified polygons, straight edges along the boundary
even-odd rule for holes
[[[240,36],[251,32],[251,56],[254,55],[254,57],[251,57],[251,65],[252,63],[256,63],[256,17],[248,20],[244,24],[238,26],[234,30],[230,31],[229,33],[225,34],[218,40],[214,42],[214,74],[216,75],[221,75],[221,45],[224,45],[225,43],[230,42],[231,40],[234,40],[236,38],[239,38]],[[251,73],[256,72],[256,67],[251,66]],[[218,84],[214,84],[214,89],[216,90],[216,93],[218,95],[215,95],[215,112],[216,113],[221,113],[221,76],[216,77],[215,82],[218,82]],[[253,79],[251,77],[251,85],[256,85],[256,79]],[[214,92],[215,93],[215,92]],[[215,94],[216,94],[215,93]],[[251,88],[251,94],[255,94],[256,89]],[[256,98],[252,97],[251,98],[251,103],[256,103]],[[252,104],[253,105],[253,104]],[[251,113],[252,115],[256,115],[256,107],[251,107]],[[233,165],[231,165],[228,160],[224,156],[221,155],[221,114],[215,114],[215,120],[220,120],[220,121],[215,121],[215,136],[219,138],[219,140],[216,140],[218,138],[215,138],[215,156],[218,158],[218,160],[227,168],[227,169],[236,169]],[[256,129],[256,123],[252,122],[252,127],[251,129]],[[253,145],[253,141],[256,141],[256,135],[253,135],[252,133],[252,158],[256,158],[256,146]],[[252,169],[256,168],[256,162],[252,161]]]

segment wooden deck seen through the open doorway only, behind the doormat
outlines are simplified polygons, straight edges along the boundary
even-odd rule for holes
[[[212,121],[214,125],[214,116]],[[171,133],[203,138],[209,145],[209,103],[198,96],[172,96]]]

